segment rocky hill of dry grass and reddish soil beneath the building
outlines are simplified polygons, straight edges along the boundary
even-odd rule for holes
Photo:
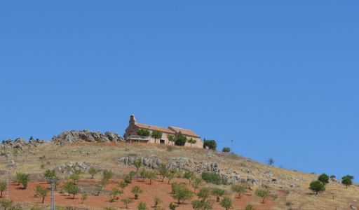
[[[245,205],[252,204],[255,209],[354,209],[357,204],[358,186],[345,186],[337,181],[330,181],[326,190],[316,195],[309,190],[309,183],[317,179],[318,174],[306,174],[295,170],[281,169],[244,158],[233,153],[222,153],[203,148],[191,148],[181,146],[168,146],[160,144],[126,144],[123,138],[115,133],[69,131],[53,137],[51,141],[41,139],[16,139],[6,140],[0,144],[0,153],[5,160],[6,154],[10,154],[8,164],[0,166],[0,179],[6,179],[6,169],[10,169],[10,177],[15,180],[16,172],[30,174],[29,187],[26,190],[19,189],[16,183],[11,183],[10,198],[29,209],[34,205],[42,206],[41,199],[34,197],[34,186],[49,187],[43,173],[46,169],[55,169],[60,178],[55,199],[62,206],[73,206],[84,209],[103,209],[104,207],[123,207],[121,201],[109,202],[111,188],[117,186],[118,181],[131,171],[135,171],[135,160],[141,160],[145,169],[156,170],[161,163],[168,169],[180,169],[191,171],[200,177],[202,172],[218,174],[225,184],[215,185],[203,182],[203,186],[210,188],[222,188],[226,190],[233,202],[233,209],[244,209]],[[81,169],[81,179],[77,181],[81,193],[88,193],[88,200],[81,204],[81,193],[72,200],[67,193],[61,192],[61,187],[68,179],[67,169]],[[108,169],[114,172],[114,176],[105,186],[100,195],[95,195],[95,186],[100,183],[101,175],[90,179],[88,169]],[[183,178],[176,178],[172,182],[187,183]],[[248,186],[245,195],[237,198],[236,193],[231,192],[232,183],[245,183]],[[175,202],[170,194],[170,185],[167,181],[161,182],[159,176],[149,184],[148,179],[134,179],[125,189],[121,198],[132,198],[130,188],[140,186],[143,193],[139,200],[129,204],[130,209],[136,209],[139,201],[147,202],[147,207],[152,206],[155,196],[163,201],[160,206],[168,209],[170,202]],[[265,188],[270,192],[270,197],[264,204],[254,195],[257,188]],[[196,196],[192,198],[196,200]],[[212,200],[215,200],[212,197]],[[45,206],[50,203],[50,196],[45,199]],[[153,208],[151,208],[153,209]],[[191,202],[180,204],[177,208],[193,209]],[[223,209],[214,201],[214,209]]]

